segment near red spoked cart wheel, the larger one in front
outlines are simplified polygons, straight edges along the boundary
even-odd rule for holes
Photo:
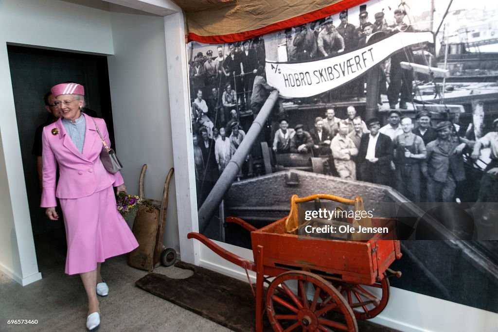
[[[291,290],[296,286],[298,295]],[[358,331],[353,311],[342,295],[328,281],[307,271],[277,276],[266,293],[266,312],[274,331]]]

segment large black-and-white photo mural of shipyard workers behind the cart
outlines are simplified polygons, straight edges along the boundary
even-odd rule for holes
[[[368,1],[187,49],[201,233],[250,248],[226,217],[361,196],[444,228],[404,234],[392,286],[498,312],[498,2]]]

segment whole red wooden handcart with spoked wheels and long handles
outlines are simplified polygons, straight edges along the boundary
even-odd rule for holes
[[[373,226],[382,224],[389,232],[377,233],[369,240],[298,236],[297,226],[302,224],[298,220],[299,203],[320,199],[357,208],[362,202],[360,197],[348,200],[325,194],[304,198],[294,195],[289,216],[260,229],[239,218],[227,218],[227,222],[238,223],[251,232],[254,262],[202,234],[188,234],[188,238],[200,240],[221,257],[246,269],[246,273],[248,269],[256,272],[257,332],[262,331],[264,311],[274,331],[358,331],[356,319],[373,318],[387,305],[387,277],[401,276],[401,272],[388,268],[401,258],[394,219],[372,218]],[[268,287],[263,307],[265,282]]]

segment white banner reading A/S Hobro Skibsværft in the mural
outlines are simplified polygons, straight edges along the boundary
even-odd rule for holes
[[[399,32],[372,45],[323,60],[266,62],[266,80],[278,89],[280,97],[311,97],[354,80],[404,47],[433,40],[432,32]]]

